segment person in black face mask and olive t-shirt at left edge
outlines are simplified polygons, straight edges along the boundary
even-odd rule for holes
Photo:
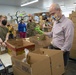
[[[0,45],[6,47],[6,42],[9,37],[8,29],[6,28],[7,25],[7,20],[1,20],[1,25],[0,25]]]

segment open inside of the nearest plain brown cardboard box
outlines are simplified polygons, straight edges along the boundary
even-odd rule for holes
[[[30,66],[31,66],[31,64],[35,64],[35,63],[40,62],[40,61],[42,61],[46,58],[47,58],[47,56],[29,52],[28,55],[27,55],[27,59],[26,59],[27,63],[26,63],[26,62],[22,62],[22,60],[25,59],[25,54],[12,57],[12,59],[15,60],[16,63],[18,61],[18,62],[21,62],[21,63],[26,63],[27,65],[30,65]]]

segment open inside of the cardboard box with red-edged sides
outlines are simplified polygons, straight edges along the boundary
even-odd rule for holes
[[[6,42],[7,45],[12,46],[13,48],[21,48],[28,45],[34,45],[34,43],[26,41],[26,39],[12,39]]]

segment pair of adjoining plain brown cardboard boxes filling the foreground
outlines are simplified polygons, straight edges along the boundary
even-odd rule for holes
[[[14,75],[62,75],[64,73],[63,52],[43,49],[12,57]]]

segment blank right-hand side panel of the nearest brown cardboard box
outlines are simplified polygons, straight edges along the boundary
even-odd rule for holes
[[[51,75],[50,60],[48,57],[32,65],[32,75]]]

